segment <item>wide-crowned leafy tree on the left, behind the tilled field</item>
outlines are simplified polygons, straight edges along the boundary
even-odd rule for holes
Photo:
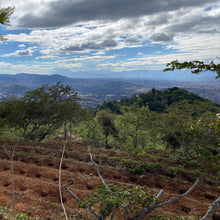
[[[9,128],[19,131],[25,141],[42,141],[79,111],[77,93],[60,82],[28,91],[20,99],[0,105],[0,116]]]

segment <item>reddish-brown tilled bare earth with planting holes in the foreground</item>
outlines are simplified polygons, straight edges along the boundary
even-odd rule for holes
[[[19,143],[16,149],[14,161],[16,211],[25,212],[34,219],[37,216],[42,220],[65,219],[58,190],[62,144]],[[131,174],[120,161],[115,162],[112,159],[112,163],[109,162],[109,157],[128,157],[126,152],[92,148],[92,154],[100,165],[101,174],[107,183],[128,187],[147,186],[153,194],[163,189],[162,201],[184,193],[193,184],[192,181],[180,176],[169,178],[157,173]],[[8,206],[11,209],[10,160],[3,148],[0,150],[0,158],[0,206]],[[86,143],[73,143],[66,148],[62,166],[62,184],[67,183],[70,177],[74,178],[74,184],[70,189],[82,200],[100,185],[100,179],[90,163]],[[62,193],[66,211],[71,219],[93,219],[91,214],[80,208],[64,189]],[[220,190],[203,183],[186,198],[156,210],[153,214],[162,215],[169,212],[179,216],[201,217],[219,196]],[[121,213],[117,213],[115,219],[123,219]],[[150,219],[149,215],[143,219]],[[215,214],[214,219],[220,219],[220,211]]]

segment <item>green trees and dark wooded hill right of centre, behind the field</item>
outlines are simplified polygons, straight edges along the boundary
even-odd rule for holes
[[[104,112],[112,118],[105,127],[97,120]],[[127,150],[136,156],[146,156],[149,149],[171,148],[186,158],[217,161],[220,152],[220,136],[216,129],[219,112],[218,104],[185,90],[152,89],[130,99],[103,103],[97,108],[92,126],[84,123],[78,132],[90,143],[95,140],[94,136],[100,137],[96,145],[104,146],[108,142],[109,147]]]

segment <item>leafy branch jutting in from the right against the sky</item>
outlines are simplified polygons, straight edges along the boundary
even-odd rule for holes
[[[205,64],[203,61],[190,61],[190,62],[183,62],[180,63],[178,60],[174,60],[170,63],[167,63],[167,68],[163,71],[173,71],[175,69],[190,69],[192,73],[199,74],[202,71],[212,71],[216,72],[217,76],[216,79],[220,77],[220,64],[215,64],[211,61],[209,64]]]

